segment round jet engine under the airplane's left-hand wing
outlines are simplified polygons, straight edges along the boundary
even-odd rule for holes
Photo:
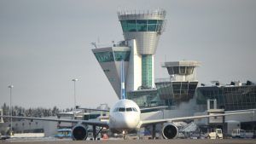
[[[74,141],[86,140],[88,131],[83,124],[77,124],[73,127],[72,138]]]

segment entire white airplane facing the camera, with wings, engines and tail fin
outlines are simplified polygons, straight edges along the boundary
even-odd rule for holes
[[[65,118],[31,118],[31,117],[17,117],[17,116],[2,116],[3,118],[23,118],[30,120],[44,120],[44,121],[55,121],[55,122],[66,122],[73,123],[72,137],[74,141],[85,141],[88,136],[88,130],[86,125],[92,125],[93,138],[96,140],[96,136],[101,132],[103,128],[109,128],[112,132],[123,133],[125,135],[131,130],[139,130],[142,127],[152,125],[153,132],[152,137],[155,135],[155,125],[163,124],[161,133],[165,139],[173,139],[177,137],[178,130],[177,126],[172,122],[192,120],[196,118],[210,118],[210,117],[221,117],[228,115],[254,113],[252,112],[233,112],[226,114],[212,114],[202,116],[191,116],[181,118],[160,118],[154,120],[142,120],[140,107],[137,103],[126,99],[125,97],[125,77],[124,77],[124,66],[121,66],[121,100],[115,103],[110,108],[109,121],[95,121],[95,120],[78,120],[78,119],[65,119]],[[1,117],[1,116],[0,116]],[[96,131],[96,126],[100,127],[100,130]]]

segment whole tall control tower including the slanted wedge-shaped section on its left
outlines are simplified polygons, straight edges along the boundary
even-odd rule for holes
[[[154,54],[164,30],[166,11],[118,13],[124,41],[92,49],[116,94],[120,95],[120,66],[124,61],[125,91],[153,89]],[[120,97],[119,97],[120,98]]]

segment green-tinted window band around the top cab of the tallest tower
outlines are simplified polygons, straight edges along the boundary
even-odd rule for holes
[[[121,20],[123,32],[160,32],[163,20]]]

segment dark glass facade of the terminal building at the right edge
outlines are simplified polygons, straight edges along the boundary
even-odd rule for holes
[[[227,111],[256,108],[256,85],[199,87],[196,103],[207,105],[207,99],[216,99],[218,108]]]

